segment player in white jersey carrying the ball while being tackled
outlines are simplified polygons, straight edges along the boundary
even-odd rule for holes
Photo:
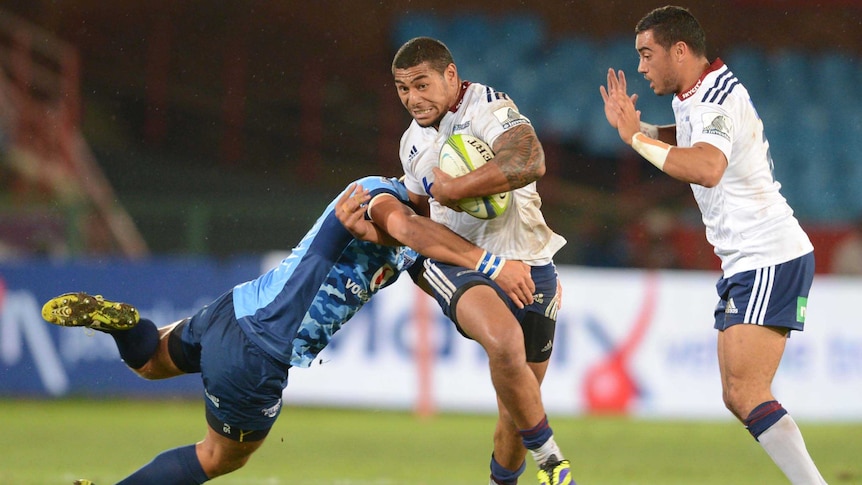
[[[540,483],[572,484],[569,462],[554,441],[540,392],[559,307],[552,258],[565,244],[539,209],[536,180],[545,172],[541,143],[530,120],[505,93],[459,77],[452,54],[439,40],[407,41],[395,54],[392,74],[413,118],[399,153],[417,211],[473,244],[532,267],[536,298],[518,309],[486,275],[426,261],[426,278],[444,313],[489,357],[499,409],[491,483],[517,483],[529,449]],[[462,177],[444,174],[437,168],[440,149],[456,133],[483,140],[495,157]],[[513,197],[510,207],[495,219],[480,220],[456,209],[462,198],[508,191]]]

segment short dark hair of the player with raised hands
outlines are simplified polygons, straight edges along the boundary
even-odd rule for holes
[[[647,30],[652,30],[656,43],[665,49],[685,42],[696,55],[706,56],[706,34],[686,8],[667,5],[653,10],[640,19],[635,34]]]

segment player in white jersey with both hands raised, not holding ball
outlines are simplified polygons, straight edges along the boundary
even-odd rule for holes
[[[805,323],[814,247],[779,193],[763,123],[728,66],[707,59],[688,10],[655,9],[635,32],[638,72],[657,95],[673,96],[676,123],[641,122],[637,95],[614,69],[600,88],[605,115],[646,160],[691,184],[721,259],[714,316],[724,403],[792,483],[826,483],[771,389],[790,331]]]

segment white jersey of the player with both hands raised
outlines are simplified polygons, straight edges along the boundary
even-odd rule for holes
[[[763,123],[748,91],[721,59],[691,89],[674,96],[673,112],[677,146],[709,143],[727,157],[718,185],[691,185],[725,277],[814,250],[779,193]]]

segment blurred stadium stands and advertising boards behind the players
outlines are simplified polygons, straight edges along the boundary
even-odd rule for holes
[[[400,173],[409,118],[389,66],[431,35],[462,77],[509,92],[545,146],[545,215],[569,241],[549,381],[572,390],[549,409],[728,419],[708,323],[718,260],[688,187],[625,149],[598,92],[624,69],[645,119],[672,121],[635,74],[632,35],[664,3],[6,0],[0,398],[197,396],[193,377],[142,384],[110,339],[49,328],[39,302],[110,292],[165,322],[256,276],[346,182]],[[752,92],[816,247],[817,326],[789,342],[779,393],[803,420],[860,422],[862,278],[832,259],[862,220],[862,3],[684,4]],[[480,353],[441,318],[433,369],[414,368],[424,300],[401,283],[345,328],[331,363],[291,376],[289,402],[493,411]]]

